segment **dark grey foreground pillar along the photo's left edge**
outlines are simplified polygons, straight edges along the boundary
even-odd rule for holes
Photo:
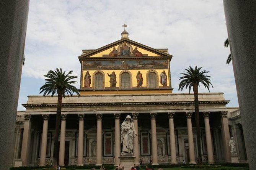
[[[3,0],[0,5],[0,169],[12,164],[29,0]],[[8,128],[7,128],[8,127]]]

